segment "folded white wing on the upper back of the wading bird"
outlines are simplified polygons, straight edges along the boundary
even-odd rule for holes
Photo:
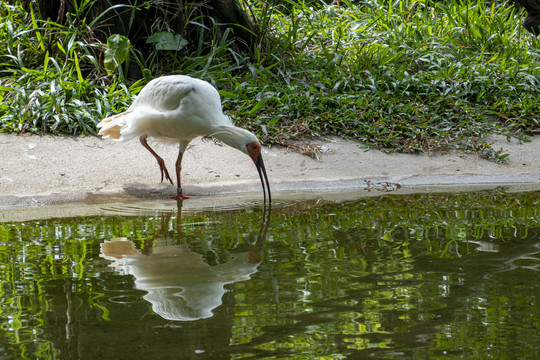
[[[130,109],[138,106],[158,111],[174,110],[193,91],[194,84],[183,76],[164,76],[150,81],[137,95]]]

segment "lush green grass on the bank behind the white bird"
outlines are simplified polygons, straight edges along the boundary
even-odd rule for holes
[[[103,54],[115,49],[96,40],[99,24],[42,21],[12,3],[0,5],[2,132],[94,134],[151,78],[182,73],[217,86],[225,111],[266,143],[338,135],[503,162],[486,135],[540,133],[539,42],[507,3],[253,2],[260,34],[251,54],[235,52],[227,32],[150,54],[126,39],[127,58],[112,68]]]

